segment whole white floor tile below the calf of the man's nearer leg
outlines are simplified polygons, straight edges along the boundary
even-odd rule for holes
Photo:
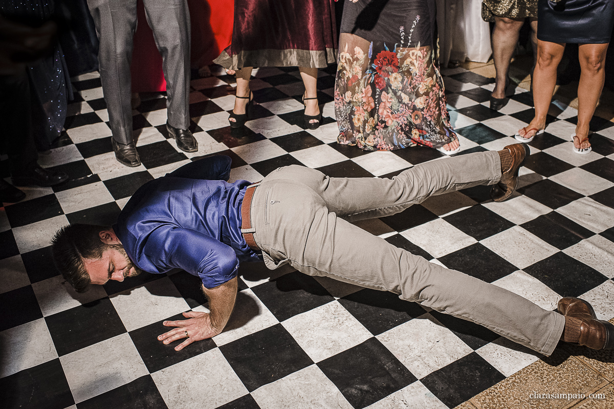
[[[379,334],[376,338],[418,379],[473,352],[429,313]]]

